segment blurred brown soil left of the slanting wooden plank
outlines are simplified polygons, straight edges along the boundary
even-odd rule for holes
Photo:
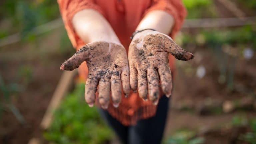
[[[55,31],[47,38],[40,38],[38,47],[34,44],[13,44],[1,48],[0,73],[4,82],[17,82],[24,87],[23,91],[11,96],[11,101],[26,123],[19,123],[13,113],[6,109],[0,119],[0,143],[26,144],[32,137],[41,137],[40,122],[62,74],[59,66],[68,57],[68,53],[60,54],[58,43],[52,41],[58,40],[59,34],[59,31]],[[72,52],[71,45],[70,49]],[[32,71],[28,74],[31,77],[27,84],[20,77],[22,67]]]

